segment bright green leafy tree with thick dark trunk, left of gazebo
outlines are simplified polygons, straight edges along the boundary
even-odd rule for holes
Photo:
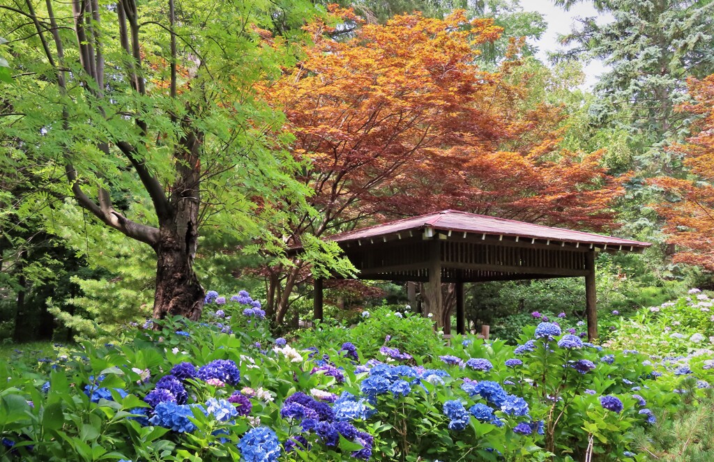
[[[202,225],[263,235],[270,246],[265,221],[284,221],[286,197],[305,205],[282,149],[283,117],[253,88],[291,62],[286,42],[261,29],[306,11],[288,4],[294,10],[269,0],[0,5],[0,78],[10,81],[0,86],[1,143],[36,185],[20,210],[69,194],[151,246],[156,318],[201,314],[193,260]],[[131,214],[135,199],[150,200],[149,214]]]

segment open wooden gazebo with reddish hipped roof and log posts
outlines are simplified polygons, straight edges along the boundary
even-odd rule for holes
[[[584,277],[591,340],[598,336],[595,252],[640,253],[651,245],[455,210],[328,239],[338,243],[360,271],[359,279],[425,283],[428,312],[441,313],[441,283],[456,283],[456,331],[462,334],[466,333],[464,283]],[[322,279],[315,281],[314,316],[323,317]]]

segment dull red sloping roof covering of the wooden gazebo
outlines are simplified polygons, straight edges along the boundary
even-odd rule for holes
[[[369,226],[347,233],[337,234],[328,239],[336,242],[356,241],[358,239],[375,238],[401,231],[432,228],[441,231],[458,231],[467,233],[487,234],[490,236],[518,236],[521,238],[545,239],[572,243],[592,243],[608,246],[633,246],[635,248],[649,247],[650,243],[630,241],[611,236],[603,236],[583,231],[541,226],[524,221],[499,219],[494,216],[469,214],[456,210],[444,210],[433,214],[415,216],[413,218],[391,221],[385,224]]]

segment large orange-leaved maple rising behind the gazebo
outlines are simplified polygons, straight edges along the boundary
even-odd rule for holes
[[[287,116],[320,212],[295,224],[293,240],[446,208],[549,224],[610,221],[615,186],[599,155],[558,149],[560,108],[520,108],[527,91],[507,79],[516,54],[499,71],[477,66],[476,46],[502,32],[493,20],[463,11],[396,16],[348,41],[331,39],[323,22],[307,30],[313,43],[303,59],[265,89]],[[281,285],[283,269],[274,268],[268,293],[278,323],[292,287],[308,277],[291,268]]]

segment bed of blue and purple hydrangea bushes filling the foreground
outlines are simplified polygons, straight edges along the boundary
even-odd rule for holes
[[[653,361],[557,317],[534,318],[518,346],[448,344],[430,321],[385,310],[273,340],[248,293],[206,303],[199,323],[0,363],[0,458],[644,461],[633,435],[710,396],[714,379],[711,355]]]

